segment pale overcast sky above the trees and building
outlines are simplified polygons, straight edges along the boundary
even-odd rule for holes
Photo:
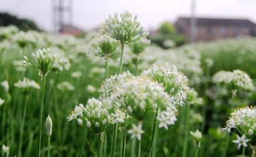
[[[69,1],[69,0],[64,0]],[[1,0],[0,12],[35,20],[53,29],[53,0]],[[189,16],[191,0],[73,0],[73,23],[84,30],[97,27],[108,15],[128,10],[138,15],[142,26],[152,29],[165,20]],[[256,23],[256,0],[196,0],[196,16],[247,18]]]

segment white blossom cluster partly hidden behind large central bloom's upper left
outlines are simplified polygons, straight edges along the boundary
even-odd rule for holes
[[[120,85],[132,78],[135,78],[135,76],[127,71],[122,72],[121,75],[112,75],[109,79],[105,79],[100,88],[100,99],[106,99],[107,97],[110,97],[115,89],[119,88]]]

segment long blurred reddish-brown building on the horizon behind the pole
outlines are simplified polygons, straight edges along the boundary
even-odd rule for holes
[[[256,25],[248,19],[196,18],[196,41],[209,41],[239,36],[256,36]],[[175,22],[176,31],[190,37],[190,18],[179,18]]]

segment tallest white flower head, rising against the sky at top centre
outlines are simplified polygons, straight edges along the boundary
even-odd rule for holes
[[[121,44],[134,44],[148,36],[148,32],[143,32],[141,24],[137,21],[137,16],[131,13],[124,13],[108,16],[105,22],[101,23],[101,32],[107,34]]]

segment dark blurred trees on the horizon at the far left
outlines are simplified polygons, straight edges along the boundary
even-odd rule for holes
[[[9,13],[0,13],[0,26],[9,26],[14,25],[17,26],[20,30],[28,31],[28,30],[36,30],[42,31],[36,25],[35,22],[29,19],[21,19],[15,15],[11,15]]]

